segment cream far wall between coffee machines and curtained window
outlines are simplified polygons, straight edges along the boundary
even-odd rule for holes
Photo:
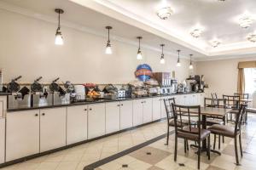
[[[209,88],[206,89],[207,93],[234,94],[237,91],[238,62],[247,60],[256,60],[256,56],[196,62],[195,72],[205,75],[205,81],[209,85]]]

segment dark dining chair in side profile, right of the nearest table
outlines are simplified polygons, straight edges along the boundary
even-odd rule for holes
[[[207,128],[213,134],[218,134],[218,135],[222,135],[222,136],[234,139],[234,141],[235,141],[235,153],[236,153],[236,165],[239,165],[238,153],[237,153],[237,137],[239,138],[240,153],[241,153],[241,157],[242,157],[241,123],[242,123],[242,117],[244,116],[244,114],[246,112],[246,107],[247,107],[247,105],[241,105],[238,113],[236,114],[235,127],[215,124],[215,125],[212,125],[211,127]]]

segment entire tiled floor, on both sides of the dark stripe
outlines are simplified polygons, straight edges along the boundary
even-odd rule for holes
[[[201,156],[201,169],[207,170],[254,170],[256,167],[256,115],[248,116],[249,122],[242,130],[242,144],[244,156],[240,160],[241,166],[235,165],[234,141],[225,138],[221,144],[221,156],[211,153],[211,160],[207,160],[205,153]],[[230,125],[231,126],[231,125]],[[172,129],[171,129],[172,130]],[[30,161],[24,161],[1,170],[82,170],[85,166],[112,156],[120,151],[141,144],[148,139],[154,139],[166,133],[166,122],[156,122],[125,133],[119,133],[108,138],[99,139],[87,144],[81,144],[68,150],[62,150],[41,156]],[[173,161],[174,135],[170,136],[169,145],[166,139],[160,139],[140,150],[119,157],[114,161],[97,167],[96,170],[172,170],[196,169],[197,156],[195,149],[183,152],[183,140],[177,145],[177,162]],[[213,139],[213,138],[212,138]],[[218,141],[218,140],[217,140]],[[218,148],[218,147],[217,147]]]

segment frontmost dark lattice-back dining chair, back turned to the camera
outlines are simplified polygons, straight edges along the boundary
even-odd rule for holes
[[[186,141],[192,140],[198,144],[197,151],[197,168],[200,169],[200,157],[201,157],[201,142],[207,139],[207,156],[210,160],[210,131],[203,129],[201,126],[201,106],[200,105],[175,105],[172,103],[172,112],[174,116],[175,127],[175,150],[174,161],[177,161],[177,139],[184,139]],[[196,113],[196,114],[195,114]],[[188,117],[189,124],[186,127],[179,127],[178,123],[182,123],[183,116]],[[197,127],[192,127],[191,116],[197,117]],[[186,146],[184,144],[184,146]]]

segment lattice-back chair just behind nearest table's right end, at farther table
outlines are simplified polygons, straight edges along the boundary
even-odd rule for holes
[[[236,115],[238,113],[240,108],[240,96],[239,95],[223,95],[223,99],[226,100],[226,108],[232,109],[230,111],[230,120],[227,119],[227,121],[233,122],[233,115]]]

